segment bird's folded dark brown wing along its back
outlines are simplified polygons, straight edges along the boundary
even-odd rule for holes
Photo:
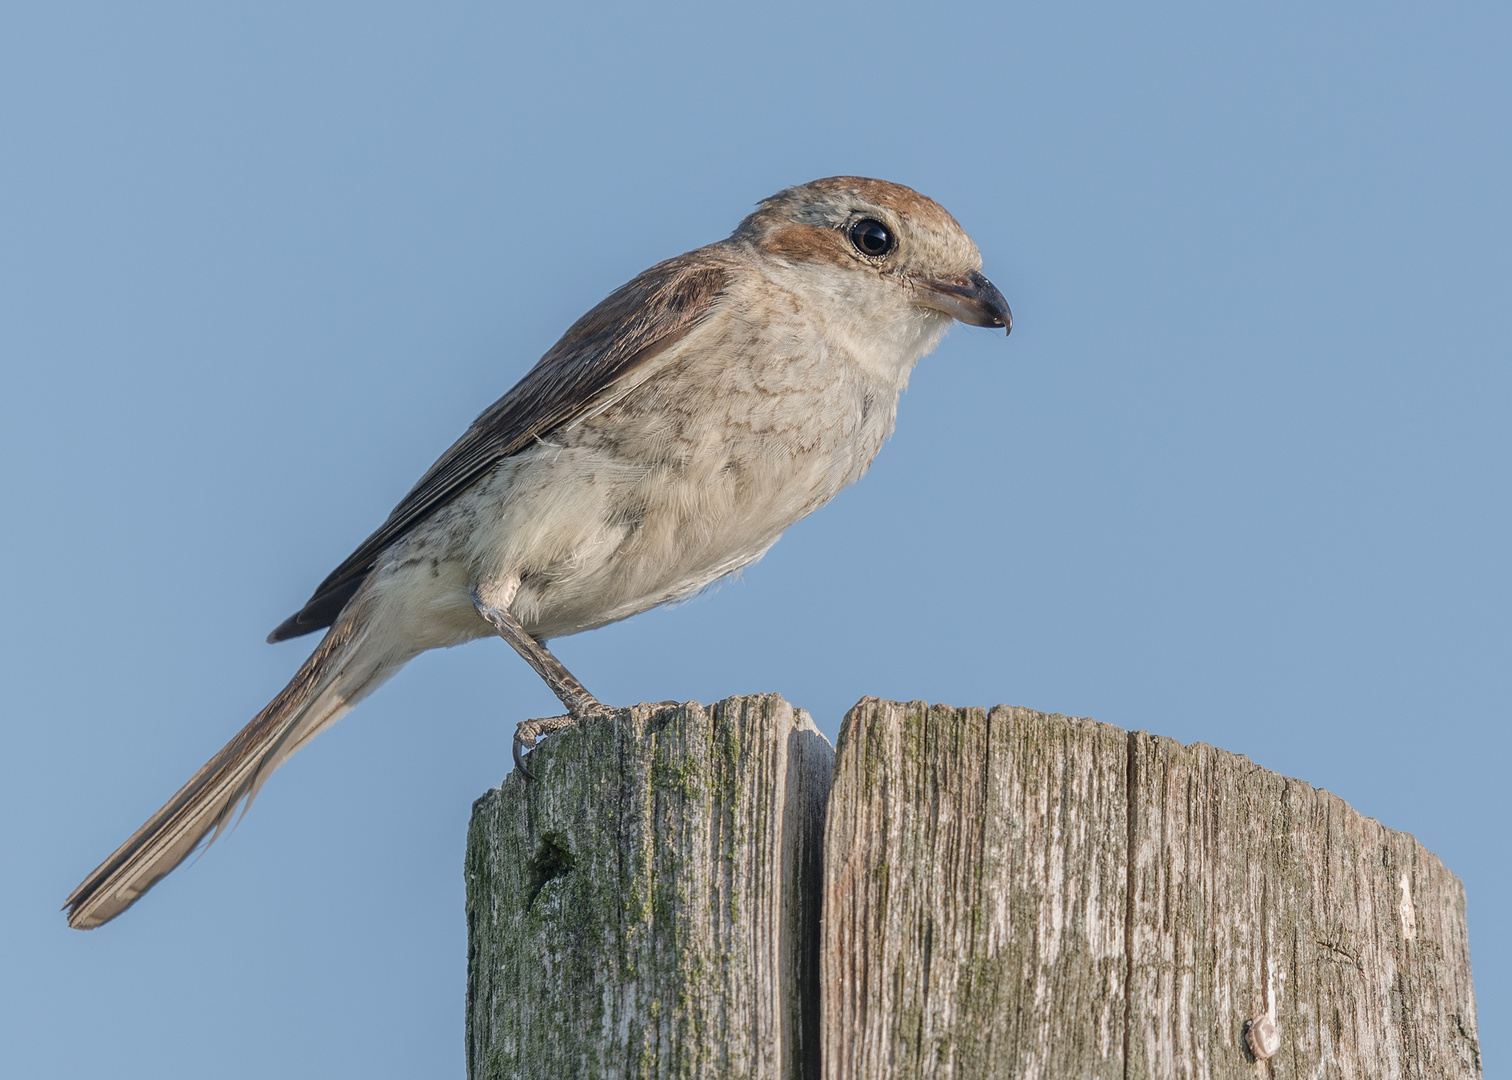
[[[499,461],[572,424],[606,390],[643,372],[708,318],[729,280],[730,263],[703,248],[658,263],[612,292],[578,319],[513,390],[473,421],[389,520],[268,640],[283,641],[330,626],[386,548]]]

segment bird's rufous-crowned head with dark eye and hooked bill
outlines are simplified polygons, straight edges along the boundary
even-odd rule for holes
[[[764,200],[732,237],[850,304],[854,316],[1013,330],[981,253],[939,203],[903,185],[830,177]],[[945,316],[945,318],[940,318]]]

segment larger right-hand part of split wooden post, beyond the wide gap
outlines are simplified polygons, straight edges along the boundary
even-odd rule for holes
[[[1326,791],[1009,706],[836,755],[826,1077],[1480,1075],[1459,879]]]

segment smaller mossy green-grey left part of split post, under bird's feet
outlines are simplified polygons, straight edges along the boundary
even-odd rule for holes
[[[818,1074],[835,752],[776,694],[553,735],[473,805],[467,1074]]]

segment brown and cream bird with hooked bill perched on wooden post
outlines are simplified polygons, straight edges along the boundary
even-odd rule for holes
[[[953,322],[1013,330],[934,200],[829,177],[762,200],[575,322],[269,641],[325,637],[289,685],[64,903],[98,927],[408,659],[497,634],[567,712],[608,712],[546,641],[691,596],[860,479]],[[526,779],[529,782],[529,779]]]

